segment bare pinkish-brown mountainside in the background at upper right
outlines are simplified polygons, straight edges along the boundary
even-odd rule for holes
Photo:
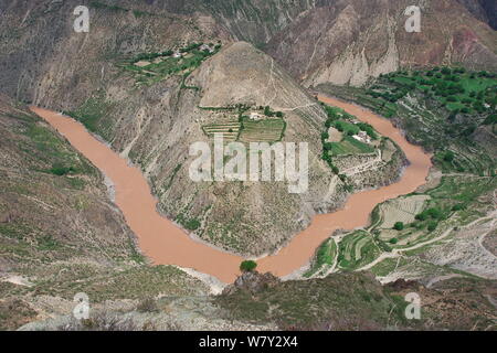
[[[404,29],[409,6],[421,8],[420,33]],[[495,71],[496,42],[496,32],[454,0],[353,0],[303,13],[266,50],[307,86],[360,86],[400,67],[461,63]]]

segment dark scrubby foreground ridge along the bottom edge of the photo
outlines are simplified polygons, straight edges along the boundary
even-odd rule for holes
[[[432,288],[398,280],[381,286],[370,274],[282,282],[271,274],[245,272],[216,297],[116,301],[77,321],[60,310],[53,319],[20,330],[493,330],[495,284],[451,279]],[[422,296],[420,320],[404,315],[404,296]],[[309,300],[309,298],[313,298]]]

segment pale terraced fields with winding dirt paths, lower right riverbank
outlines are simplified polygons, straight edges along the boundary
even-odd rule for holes
[[[337,264],[329,257],[319,260],[319,256],[324,258],[322,253],[327,254],[325,249],[329,249],[327,240],[306,277],[368,269],[382,281],[390,281],[491,272],[496,259],[478,243],[482,234],[478,232],[493,229],[495,220],[490,212],[495,214],[495,190],[497,178],[444,176],[438,186],[426,193],[380,204],[369,228],[335,238]],[[390,227],[396,222],[403,222],[405,227],[400,231]],[[426,255],[432,263],[425,259]],[[451,261],[455,268],[444,265]]]

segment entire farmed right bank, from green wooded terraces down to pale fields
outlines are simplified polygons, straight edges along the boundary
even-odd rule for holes
[[[495,232],[496,84],[493,73],[438,68],[391,74],[367,88],[318,87],[395,116],[411,141],[433,151],[435,169],[430,186],[380,204],[369,227],[335,237],[338,264],[316,257],[310,277],[325,268],[371,270],[382,281],[426,284],[440,276],[495,276],[496,258],[482,244]],[[338,157],[334,163],[339,165]]]

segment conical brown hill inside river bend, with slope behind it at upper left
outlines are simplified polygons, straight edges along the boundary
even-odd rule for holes
[[[20,39],[17,44],[2,41],[8,53],[3,65],[9,69],[1,79],[10,83],[3,89],[66,111],[139,164],[166,216],[211,244],[260,256],[279,248],[315,213],[342,204],[346,184],[334,179],[321,160],[324,109],[264,52],[246,42],[232,42],[230,31],[215,21],[205,24],[201,17],[187,17],[182,11],[166,15],[160,7],[146,4],[131,11],[126,2],[117,8],[91,2],[92,30],[75,33],[71,4],[8,6],[8,20],[24,17],[25,21],[9,34]],[[151,9],[156,12],[147,12]],[[46,25],[49,19],[63,15],[65,21]],[[192,43],[220,43],[221,47],[204,55],[188,49]],[[181,64],[159,55],[178,49],[184,49]],[[135,60],[147,55],[156,55],[155,62]],[[141,69],[137,66],[141,63],[149,66]],[[266,106],[282,115],[274,121],[283,125],[281,136],[268,142],[309,143],[309,189],[290,194],[284,182],[192,182],[190,145],[212,142],[205,129],[236,125]],[[258,135],[247,132],[240,138],[246,146],[262,141],[261,127]],[[399,160],[373,184],[391,182],[401,168]]]

